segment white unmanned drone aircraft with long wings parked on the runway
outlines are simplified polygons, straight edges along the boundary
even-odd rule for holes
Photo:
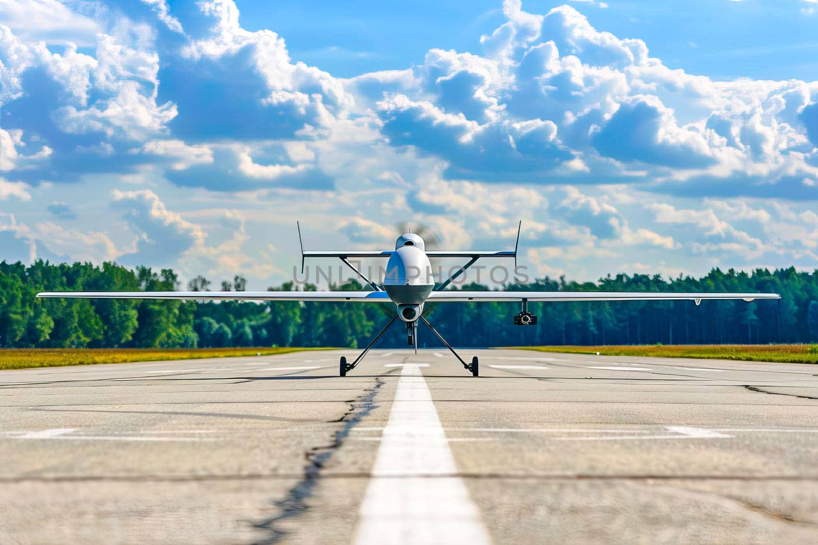
[[[520,222],[521,226],[522,222]],[[513,251],[481,252],[467,251],[426,251],[424,240],[416,234],[406,233],[398,237],[394,250],[349,252],[320,251],[305,252],[301,244],[301,267],[303,272],[304,260],[307,257],[338,257],[344,264],[354,270],[366,284],[372,288],[371,292],[43,292],[37,297],[84,297],[94,299],[235,299],[243,301],[337,301],[337,302],[368,302],[389,303],[397,306],[396,315],[389,324],[378,333],[369,346],[366,346],[361,355],[351,363],[347,363],[342,356],[339,364],[340,376],[344,377],[355,369],[371,347],[378,342],[381,336],[396,319],[407,324],[407,343],[417,350],[417,325],[419,321],[426,324],[452,354],[460,360],[463,367],[475,377],[479,375],[477,356],[467,364],[460,355],[446,342],[438,330],[422,315],[425,302],[520,302],[521,309],[515,315],[515,325],[536,325],[537,316],[528,312],[528,302],[560,302],[560,301],[694,301],[699,305],[703,299],[743,299],[746,302],[754,299],[780,299],[777,293],[658,293],[658,292],[521,292],[495,290],[489,292],[467,292],[461,290],[445,290],[452,280],[460,276],[466,269],[474,265],[481,257],[510,257],[517,259],[517,245],[519,245],[519,227],[517,228],[517,243]],[[299,242],[301,229],[299,226]],[[387,258],[384,281],[375,284],[368,279],[349,261],[350,257],[384,257]],[[429,257],[462,257],[469,261],[457,269],[443,283],[435,284],[432,275],[432,266]]]

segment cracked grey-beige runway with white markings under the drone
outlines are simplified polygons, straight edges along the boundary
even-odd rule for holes
[[[463,350],[0,372],[0,543],[816,543],[818,368]]]

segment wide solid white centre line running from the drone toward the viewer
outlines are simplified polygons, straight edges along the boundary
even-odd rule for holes
[[[418,428],[425,432],[412,431]],[[361,504],[356,543],[489,543],[456,472],[420,366],[407,364]],[[407,478],[382,478],[393,476]]]

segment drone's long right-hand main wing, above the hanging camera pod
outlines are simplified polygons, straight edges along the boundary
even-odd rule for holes
[[[443,290],[429,294],[429,302],[503,301],[694,301],[704,299],[780,299],[778,293],[673,293],[673,292],[464,292]]]

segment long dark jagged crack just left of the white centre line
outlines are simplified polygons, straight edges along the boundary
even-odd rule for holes
[[[281,529],[278,525],[283,520],[288,520],[302,515],[308,511],[308,499],[314,494],[318,480],[321,478],[321,470],[326,466],[326,462],[338,451],[344,440],[349,436],[349,433],[361,422],[362,418],[366,417],[372,412],[377,405],[375,404],[375,396],[378,394],[380,387],[384,385],[384,381],[375,377],[375,385],[366,388],[362,395],[353,400],[348,400],[349,409],[337,420],[330,420],[329,422],[344,422],[344,427],[339,431],[335,431],[335,437],[331,444],[312,447],[304,453],[304,458],[307,459],[307,465],[304,467],[303,474],[300,476],[301,480],[287,491],[285,497],[274,504],[280,509],[276,516],[272,516],[262,522],[255,522],[252,525],[256,529],[263,529],[270,533],[267,538],[258,539],[254,543],[256,545],[267,545],[269,543],[278,543],[282,538],[289,534],[288,530]]]

